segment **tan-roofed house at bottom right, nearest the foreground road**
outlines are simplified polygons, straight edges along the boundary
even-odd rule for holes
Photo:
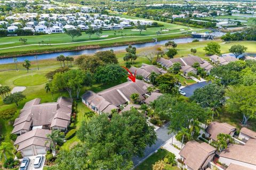
[[[188,170],[205,169],[209,166],[215,155],[214,147],[208,143],[198,143],[196,141],[188,141],[179,153],[185,168]]]

